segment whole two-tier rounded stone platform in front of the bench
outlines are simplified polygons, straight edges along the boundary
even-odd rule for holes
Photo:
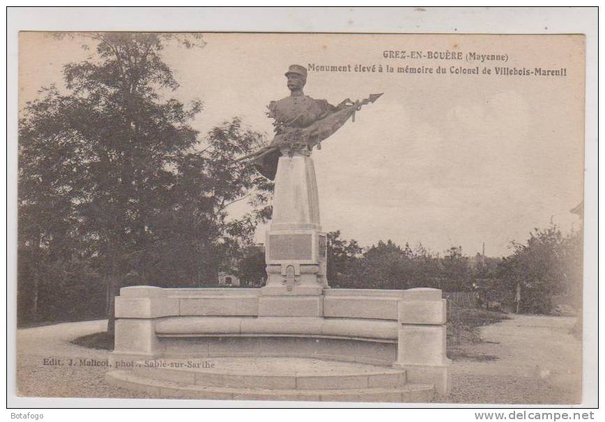
[[[288,357],[148,359],[107,382],[162,398],[427,403],[432,384],[406,382],[401,368]]]

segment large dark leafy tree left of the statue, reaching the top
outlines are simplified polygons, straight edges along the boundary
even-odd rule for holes
[[[53,265],[92,265],[107,286],[110,332],[120,287],[211,277],[270,215],[272,186],[233,160],[261,136],[234,119],[200,141],[189,122],[201,102],[167,97],[178,84],[161,53],[175,40],[203,44],[91,34],[95,54],[63,69],[68,93],[43,89],[20,119],[20,246]],[[244,199],[254,211],[230,220],[227,207]],[[59,277],[41,271],[33,279]]]

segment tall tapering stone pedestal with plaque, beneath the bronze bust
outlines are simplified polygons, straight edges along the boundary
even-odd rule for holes
[[[282,151],[273,194],[273,221],[266,233],[267,284],[259,313],[322,316],[327,237],[321,231],[313,160]]]

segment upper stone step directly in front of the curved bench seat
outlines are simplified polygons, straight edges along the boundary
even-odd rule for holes
[[[157,359],[136,362],[133,373],[176,384],[272,390],[394,388],[406,383],[400,368],[303,358]]]

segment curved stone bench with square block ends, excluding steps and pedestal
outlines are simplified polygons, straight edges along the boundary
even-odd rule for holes
[[[275,302],[261,289],[122,288],[112,361],[306,357],[396,366],[409,382],[450,391],[441,290],[325,289]],[[309,304],[303,303],[306,309]]]

